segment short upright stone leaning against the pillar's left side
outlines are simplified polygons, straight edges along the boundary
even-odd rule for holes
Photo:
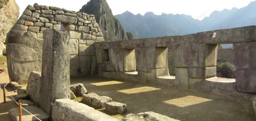
[[[28,98],[35,103],[35,105],[39,105],[41,72],[31,72],[28,80],[26,94],[28,95]]]

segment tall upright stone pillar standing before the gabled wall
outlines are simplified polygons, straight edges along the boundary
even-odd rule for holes
[[[49,115],[55,99],[69,99],[69,36],[67,32],[44,31],[40,106]]]

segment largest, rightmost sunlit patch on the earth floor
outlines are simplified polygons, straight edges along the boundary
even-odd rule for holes
[[[203,98],[203,97],[197,97],[197,96],[186,96],[176,99],[171,99],[167,101],[163,101],[164,103],[179,106],[179,107],[186,107],[191,106],[195,104],[200,104],[204,102],[212,101],[211,99]]]

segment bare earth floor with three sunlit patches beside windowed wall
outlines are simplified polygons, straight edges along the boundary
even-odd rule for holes
[[[127,104],[128,111],[122,115],[112,115],[98,109],[118,119],[128,113],[154,111],[181,121],[256,121],[249,101],[110,78],[72,78],[71,84],[74,83],[83,83],[89,92]]]

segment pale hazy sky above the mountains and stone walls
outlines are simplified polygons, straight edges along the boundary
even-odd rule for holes
[[[72,1],[72,2],[70,2]],[[16,0],[20,15],[24,9],[35,2],[39,5],[56,6],[68,10],[79,11],[89,0]],[[154,12],[156,15],[185,14],[195,19],[203,19],[214,10],[242,8],[255,0],[107,0],[113,15],[129,11],[135,15]]]

